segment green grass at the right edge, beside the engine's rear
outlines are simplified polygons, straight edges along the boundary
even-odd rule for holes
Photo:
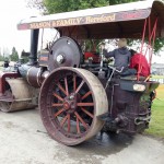
[[[156,90],[156,99],[153,101],[152,119],[145,133],[164,138],[164,84]]]

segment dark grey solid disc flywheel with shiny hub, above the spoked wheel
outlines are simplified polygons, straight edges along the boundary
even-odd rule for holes
[[[79,67],[82,51],[79,44],[70,37],[60,37],[50,49],[48,69],[52,71],[59,67]]]

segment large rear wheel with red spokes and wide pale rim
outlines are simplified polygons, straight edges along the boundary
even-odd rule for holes
[[[39,108],[49,136],[67,145],[79,144],[104,126],[97,116],[107,113],[108,103],[99,80],[90,71],[59,68],[43,83]]]

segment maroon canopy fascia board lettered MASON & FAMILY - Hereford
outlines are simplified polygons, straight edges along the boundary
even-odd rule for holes
[[[20,30],[25,30],[25,28],[34,30],[34,28],[49,28],[49,27],[72,26],[72,25],[82,25],[82,24],[107,23],[107,22],[117,22],[117,21],[141,20],[148,17],[149,14],[150,14],[150,10],[145,9],[145,10],[134,10],[128,12],[125,11],[125,12],[108,13],[108,14],[97,14],[97,15],[62,19],[62,20],[34,22],[34,23],[25,24],[25,26],[23,26],[23,24],[20,24],[17,27]]]

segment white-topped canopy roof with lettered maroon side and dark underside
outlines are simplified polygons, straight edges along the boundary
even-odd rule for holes
[[[164,37],[164,1],[147,0],[95,9],[79,10],[22,20],[19,30],[57,28],[75,38],[139,38],[144,20],[151,27],[157,17],[156,36]],[[148,36],[148,32],[145,35]]]

